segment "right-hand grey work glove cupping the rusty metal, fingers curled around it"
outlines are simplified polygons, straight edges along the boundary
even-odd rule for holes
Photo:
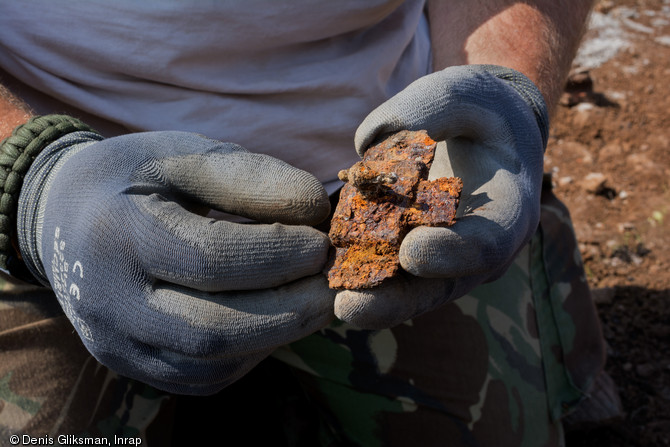
[[[449,228],[408,233],[400,263],[410,274],[338,293],[336,316],[361,328],[394,326],[498,278],[539,222],[548,116],[528,78],[472,65],[424,76],[368,115],[356,149],[362,156],[375,140],[402,129],[425,129],[446,141],[429,178],[461,177],[459,218]]]

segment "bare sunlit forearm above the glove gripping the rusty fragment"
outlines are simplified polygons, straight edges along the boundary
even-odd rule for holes
[[[535,82],[551,113],[592,5],[592,0],[428,0],[435,69],[513,68]]]

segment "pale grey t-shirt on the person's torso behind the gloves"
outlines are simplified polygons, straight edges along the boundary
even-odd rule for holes
[[[360,121],[431,64],[423,0],[22,0],[0,10],[0,68],[25,84],[131,131],[232,141],[322,182],[358,159]]]

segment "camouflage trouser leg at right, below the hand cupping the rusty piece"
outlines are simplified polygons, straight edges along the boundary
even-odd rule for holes
[[[338,322],[274,357],[317,404],[321,445],[549,447],[603,353],[569,215],[545,191],[541,227],[502,278],[398,327]]]

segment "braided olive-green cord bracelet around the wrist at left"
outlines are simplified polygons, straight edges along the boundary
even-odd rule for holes
[[[95,132],[82,121],[67,115],[36,116],[14,129],[12,135],[0,143],[0,268],[12,276],[31,279],[13,244],[23,178],[45,147],[64,135],[82,130]]]

